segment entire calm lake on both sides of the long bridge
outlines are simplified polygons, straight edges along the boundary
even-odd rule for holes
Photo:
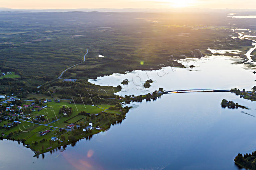
[[[99,85],[122,85],[119,95],[165,90],[250,90],[256,75],[238,57],[206,56],[180,60],[186,68],[165,67],[133,71],[89,80]],[[189,66],[193,64],[194,68]],[[143,83],[151,78],[150,88]],[[250,109],[224,109],[222,99]],[[256,105],[234,93],[164,94],[155,101],[131,103],[133,109],[121,124],[91,140],[82,139],[66,150],[33,157],[33,152],[13,141],[0,141],[0,169],[45,170],[237,170],[233,159],[256,150]]]

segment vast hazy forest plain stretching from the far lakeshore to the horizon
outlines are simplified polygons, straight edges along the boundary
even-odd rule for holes
[[[83,61],[87,49],[85,62],[66,71],[63,78],[88,80],[136,69],[184,67],[175,59],[209,54],[206,49],[216,37],[225,49],[249,46],[243,40],[235,47],[225,44],[227,36],[236,36],[230,29],[237,20],[224,13],[218,17],[208,13],[183,13],[179,17],[111,12],[1,14],[0,69],[20,76],[3,79],[1,93],[19,94],[55,81],[63,70]],[[187,22],[192,16],[198,19]]]

